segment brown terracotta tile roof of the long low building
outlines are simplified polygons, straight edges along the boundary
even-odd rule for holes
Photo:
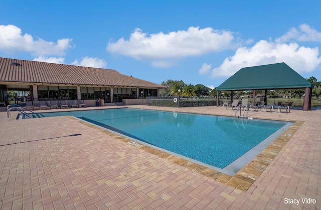
[[[21,65],[11,65],[20,63]],[[0,57],[0,81],[167,88],[116,70]]]

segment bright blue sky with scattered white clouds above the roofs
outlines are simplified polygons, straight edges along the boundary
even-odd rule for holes
[[[242,67],[279,62],[321,80],[318,0],[1,1],[0,7],[0,57],[212,88]]]

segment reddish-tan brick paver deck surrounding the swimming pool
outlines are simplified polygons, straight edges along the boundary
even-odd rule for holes
[[[132,107],[234,116],[221,107]],[[246,191],[71,117],[13,114],[0,113],[0,209],[321,209],[320,110],[248,113],[300,123]]]

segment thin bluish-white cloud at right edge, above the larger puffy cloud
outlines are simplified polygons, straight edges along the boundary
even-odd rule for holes
[[[277,43],[285,43],[288,41],[321,42],[321,33],[317,32],[309,25],[302,24],[299,26],[299,30],[293,27],[282,37],[276,39]]]

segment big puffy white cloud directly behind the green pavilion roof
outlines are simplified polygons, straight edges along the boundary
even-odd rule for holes
[[[214,68],[211,77],[231,76],[243,67],[284,62],[298,73],[311,72],[321,63],[318,48],[300,47],[296,43],[276,44],[261,40],[253,47],[238,48],[235,55],[226,58]]]

